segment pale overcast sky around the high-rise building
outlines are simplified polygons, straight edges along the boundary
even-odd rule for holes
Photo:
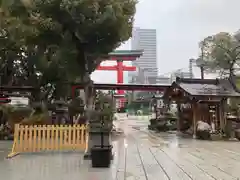
[[[240,0],[139,0],[135,27],[157,29],[159,74],[186,71],[188,60],[198,56],[198,43],[204,37],[240,29],[239,9]],[[130,49],[130,43],[120,49]],[[126,79],[127,73],[124,76]],[[92,78],[115,83],[116,72],[96,71]]]

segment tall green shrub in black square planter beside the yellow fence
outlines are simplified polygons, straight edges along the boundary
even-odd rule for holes
[[[112,159],[112,145],[110,143],[113,129],[113,109],[111,103],[103,95],[95,105],[95,121],[90,123],[90,138],[92,167],[109,167]]]

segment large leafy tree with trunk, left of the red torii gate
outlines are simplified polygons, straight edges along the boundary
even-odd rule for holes
[[[55,85],[61,84],[64,77],[84,82],[87,112],[91,112],[94,91],[90,74],[109,52],[131,37],[136,3],[137,0],[11,0],[4,7],[10,14],[6,20],[13,18],[19,21],[16,27],[20,30],[13,38],[13,44],[22,42],[14,55],[26,56],[24,61],[29,68],[26,72],[33,70],[35,76],[39,71],[38,79],[44,79],[40,81],[44,82],[42,87],[53,84],[47,82],[55,77],[59,77],[55,79]],[[8,23],[5,25],[7,39],[12,39],[10,29],[13,27]],[[30,29],[31,33],[23,31],[23,27]],[[2,47],[4,43],[0,42],[0,49]],[[17,52],[22,50],[24,53]],[[14,67],[12,59],[4,58],[4,61]],[[34,64],[29,65],[29,62]],[[56,69],[52,63],[58,64]],[[61,73],[64,71],[67,74]],[[53,72],[57,76],[51,76]],[[90,119],[90,113],[87,113],[87,119]]]

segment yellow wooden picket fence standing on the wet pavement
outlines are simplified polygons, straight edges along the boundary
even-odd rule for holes
[[[15,125],[9,158],[24,152],[85,150],[85,125]]]

